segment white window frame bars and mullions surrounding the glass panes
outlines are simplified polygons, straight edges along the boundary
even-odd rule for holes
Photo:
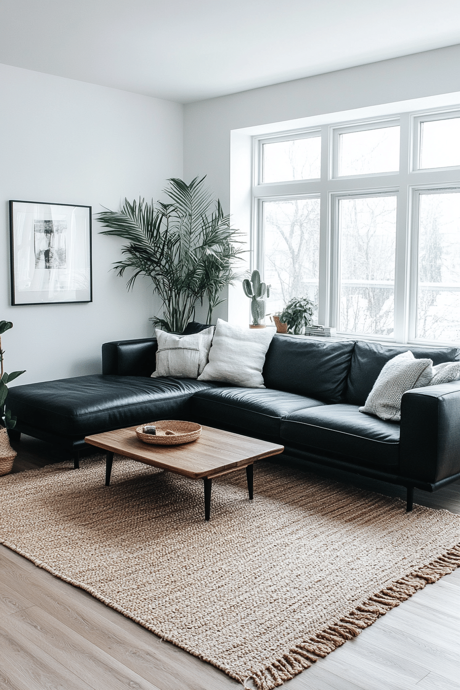
[[[251,270],[263,268],[263,201],[320,197],[319,323],[337,328],[339,317],[339,199],[376,195],[397,195],[397,244],[394,273],[394,337],[343,333],[354,339],[404,344],[440,345],[416,338],[418,281],[418,198],[432,190],[448,193],[460,188],[460,166],[414,168],[420,149],[420,122],[460,117],[460,104],[450,108],[432,108],[418,112],[392,113],[383,117],[324,123],[304,130],[252,136],[252,225]],[[338,177],[338,141],[341,133],[399,126],[399,171]],[[321,177],[319,179],[259,183],[261,144],[314,137],[321,133]],[[340,334],[342,335],[342,334]]]

